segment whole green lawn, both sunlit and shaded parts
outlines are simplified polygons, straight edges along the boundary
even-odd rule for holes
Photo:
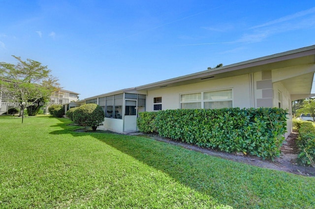
[[[315,178],[68,123],[0,117],[1,209],[315,208]]]

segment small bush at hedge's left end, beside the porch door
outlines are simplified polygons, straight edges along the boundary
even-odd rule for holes
[[[157,132],[155,125],[155,118],[158,112],[142,112],[139,113],[139,118],[137,119],[137,126],[139,130],[143,133],[154,133]]]

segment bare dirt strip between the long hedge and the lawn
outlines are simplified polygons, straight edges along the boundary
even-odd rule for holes
[[[204,149],[198,146],[165,139],[158,136],[157,134],[139,134],[138,136],[152,138],[161,142],[166,142],[172,145],[181,146],[186,149],[199,151],[208,155],[217,156],[217,157],[221,157],[228,160],[233,160],[236,162],[247,163],[253,166],[274,169],[278,171],[284,171],[284,172],[297,174],[297,175],[303,175],[303,176],[313,176],[313,177],[315,176],[315,168],[299,166],[297,164],[297,155],[299,151],[295,143],[295,139],[298,137],[297,133],[291,133],[287,137],[287,139],[285,140],[281,148],[281,154],[279,157],[275,159],[275,161],[262,160],[259,157],[244,155],[243,153],[226,153],[226,152],[216,151],[213,149]]]

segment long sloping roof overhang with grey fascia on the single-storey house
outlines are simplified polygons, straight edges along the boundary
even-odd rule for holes
[[[243,61],[235,64],[214,68],[211,70],[205,70],[197,73],[192,73],[185,76],[180,76],[156,83],[151,83],[143,86],[138,86],[129,89],[117,90],[109,93],[99,94],[93,97],[85,98],[77,102],[83,102],[89,99],[110,96],[120,94],[124,92],[141,93],[148,90],[158,90],[194,83],[200,83],[210,80],[216,80],[221,78],[227,78],[232,76],[244,75],[249,73],[255,73],[266,70],[289,68],[293,66],[314,65],[315,66],[315,45],[304,47],[296,50],[291,50],[279,54],[274,54],[266,57],[261,57],[253,60]],[[295,95],[293,98],[301,97],[304,95],[307,98],[312,95],[311,89],[313,84],[314,71],[309,72],[307,75],[295,76],[283,80],[283,84],[286,88],[292,91],[291,94]],[[305,80],[306,79],[306,80]],[[299,81],[299,82],[298,82]],[[306,82],[305,82],[306,81]],[[294,86],[295,85],[295,86]],[[301,89],[302,87],[302,89]],[[299,89],[299,91],[294,91]],[[290,91],[290,92],[291,92]],[[293,99],[292,99],[293,100]]]

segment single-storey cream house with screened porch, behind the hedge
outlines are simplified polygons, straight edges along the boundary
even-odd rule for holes
[[[98,104],[105,112],[103,128],[128,132],[137,130],[138,113],[144,111],[281,107],[288,109],[286,137],[292,130],[291,101],[315,96],[314,72],[315,45],[96,95],[67,108]]]

